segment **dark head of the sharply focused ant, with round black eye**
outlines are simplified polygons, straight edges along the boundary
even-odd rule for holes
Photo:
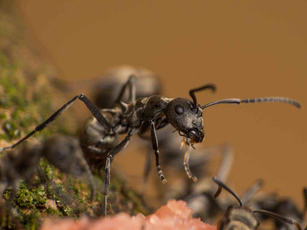
[[[204,140],[203,110],[199,104],[194,106],[187,98],[175,98],[166,105],[165,115],[179,133],[184,133],[181,136],[188,137],[196,143]]]

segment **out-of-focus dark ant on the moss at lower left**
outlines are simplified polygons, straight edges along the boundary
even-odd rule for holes
[[[61,172],[73,176],[85,176],[91,189],[91,197],[95,198],[95,182],[91,170],[83,157],[77,139],[70,136],[50,137],[43,144],[25,142],[20,148],[7,151],[0,159],[0,195],[12,188],[10,199],[14,198],[21,179],[30,186],[48,183],[40,166],[44,157]],[[38,172],[40,181],[33,183],[34,174]]]

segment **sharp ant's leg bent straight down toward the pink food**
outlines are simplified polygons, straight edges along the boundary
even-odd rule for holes
[[[106,168],[104,171],[104,190],[103,190],[103,204],[104,204],[104,215],[107,216],[107,198],[109,193],[109,185],[110,185],[110,161],[113,157],[122,151],[128,145],[130,141],[130,133],[121,143],[119,143],[115,148],[111,149],[111,151],[107,155]]]

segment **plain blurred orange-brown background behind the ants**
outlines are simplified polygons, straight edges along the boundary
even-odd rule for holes
[[[300,101],[301,110],[284,104],[210,107],[204,111],[202,144],[234,146],[229,181],[236,191],[264,178],[265,191],[302,202],[301,188],[307,185],[306,1],[19,0],[17,7],[30,27],[29,38],[69,82],[129,64],[161,75],[169,98],[188,97],[190,88],[212,82],[217,93],[198,93],[200,104],[261,96]],[[83,109],[80,103],[74,106]],[[145,154],[132,150],[128,147],[114,162],[126,164],[122,170],[141,183]],[[123,163],[131,154],[139,160]],[[155,170],[150,179],[158,179]]]

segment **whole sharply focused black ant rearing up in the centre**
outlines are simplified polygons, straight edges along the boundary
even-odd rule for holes
[[[88,148],[91,148],[93,151],[104,151],[107,153],[105,150],[103,150],[104,147],[109,149],[110,146],[113,146],[118,134],[127,134],[124,140],[112,148],[106,156],[104,174],[105,186],[103,192],[105,211],[104,214],[106,215],[107,196],[110,184],[110,161],[117,153],[126,148],[130,142],[130,137],[134,134],[138,133],[140,136],[142,136],[148,130],[151,131],[151,142],[154,154],[156,156],[158,175],[161,179],[161,182],[166,183],[167,181],[159,163],[159,150],[156,136],[157,129],[171,124],[181,136],[191,139],[191,144],[194,144],[204,140],[205,133],[203,126],[203,109],[209,106],[217,104],[240,104],[251,102],[283,102],[294,105],[297,108],[301,107],[297,101],[283,97],[266,97],[253,99],[231,98],[211,102],[200,106],[200,104],[198,104],[196,101],[195,92],[205,89],[211,89],[214,91],[216,88],[212,84],[207,84],[190,90],[189,94],[193,99],[192,101],[187,98],[166,98],[160,95],[153,95],[147,98],[136,99],[135,84],[136,78],[134,75],[132,75],[123,86],[115,102],[114,108],[112,109],[102,109],[99,111],[99,109],[97,109],[97,107],[84,94],[76,95],[24,138],[10,147],[1,148],[0,151],[14,148],[24,140],[28,139],[34,133],[39,132],[50,125],[77,99],[84,102],[84,104],[96,118],[87,123],[86,128],[83,130],[83,134],[87,136],[86,144],[88,145]],[[126,88],[129,88],[128,104],[121,101],[122,95],[125,93]]]

